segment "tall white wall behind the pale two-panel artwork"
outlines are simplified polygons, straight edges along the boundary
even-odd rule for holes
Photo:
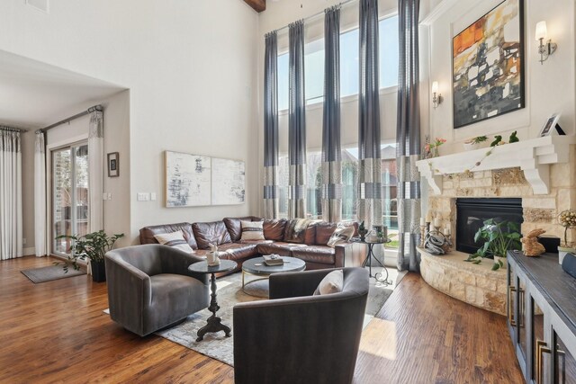
[[[118,191],[112,201],[119,193],[119,204],[130,206],[129,215],[114,212],[130,220],[130,242],[148,224],[255,213],[257,13],[239,0],[50,5],[45,14],[21,0],[2,2],[0,49],[130,88],[130,116],[124,120],[130,138],[122,134],[106,148],[112,152],[130,140],[130,150],[121,151],[120,177],[129,156],[130,182],[110,186]],[[246,161],[247,202],[164,208],[166,149]],[[136,192],[157,192],[158,200],[137,202]]]

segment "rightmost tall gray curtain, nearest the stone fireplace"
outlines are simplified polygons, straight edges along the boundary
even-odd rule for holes
[[[420,156],[419,114],[419,0],[398,1],[400,36],[398,80],[398,269],[419,271]]]

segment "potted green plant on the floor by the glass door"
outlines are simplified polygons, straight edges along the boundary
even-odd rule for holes
[[[92,280],[96,282],[106,281],[106,270],[104,268],[104,255],[112,249],[116,241],[124,237],[124,234],[112,235],[109,237],[103,230],[92,232],[84,236],[60,235],[56,239],[67,238],[72,240],[69,248],[70,255],[68,261],[64,263],[64,272],[68,272],[69,265],[75,270],[80,268],[78,259],[90,260],[92,268]]]

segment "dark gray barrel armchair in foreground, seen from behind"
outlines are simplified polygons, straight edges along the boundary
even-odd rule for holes
[[[368,272],[344,268],[342,292],[312,296],[329,270],[270,276],[270,300],[234,307],[234,378],[244,383],[350,383]]]

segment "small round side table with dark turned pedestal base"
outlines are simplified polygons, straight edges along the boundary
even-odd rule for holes
[[[216,312],[218,312],[218,309],[220,309],[220,307],[218,306],[218,302],[216,301],[216,276],[214,276],[214,273],[231,271],[234,268],[236,268],[237,265],[238,264],[236,262],[233,262],[231,260],[220,260],[220,265],[216,265],[213,267],[209,266],[207,262],[193,263],[188,267],[188,271],[190,272],[211,273],[210,278],[211,300],[210,300],[210,307],[208,307],[208,310],[211,311],[212,316],[208,317],[207,320],[208,324],[202,326],[202,328],[198,330],[198,337],[196,338],[196,342],[202,341],[204,335],[206,335],[208,332],[224,331],[226,337],[230,336],[231,331],[230,327],[223,325],[220,317],[216,317]]]

